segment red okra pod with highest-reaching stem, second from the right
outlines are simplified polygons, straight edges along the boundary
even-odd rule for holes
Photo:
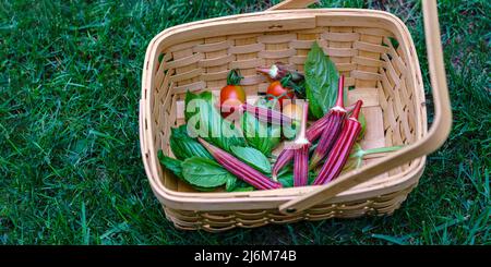
[[[337,137],[339,136],[340,130],[343,128],[343,122],[346,117],[346,109],[344,105],[344,87],[345,87],[345,76],[339,77],[338,90],[336,105],[330,110],[330,120],[325,125],[321,139],[319,141],[318,147],[315,148],[312,158],[310,160],[310,168],[314,168],[322,159],[324,159]]]

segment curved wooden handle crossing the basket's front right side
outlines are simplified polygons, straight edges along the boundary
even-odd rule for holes
[[[434,102],[434,121],[427,136],[412,145],[406,146],[382,158],[376,163],[367,165],[358,170],[354,170],[351,173],[344,174],[327,185],[320,186],[306,195],[282,204],[279,206],[280,213],[295,214],[302,211],[402,163],[430,154],[443,145],[452,129],[452,111],[443,64],[436,1],[422,1],[422,11]]]

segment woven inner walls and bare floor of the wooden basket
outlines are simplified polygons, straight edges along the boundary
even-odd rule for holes
[[[313,27],[268,27],[260,33],[251,27],[251,33],[223,32],[224,35],[216,36],[215,33],[213,37],[190,35],[175,45],[160,46],[161,49],[154,51],[158,62],[152,75],[155,87],[149,89],[153,95],[151,119],[155,129],[152,136],[156,150],[161,148],[172,156],[168,144],[169,129],[184,123],[183,99],[188,89],[219,92],[226,84],[228,71],[240,69],[248,100],[253,101],[265,93],[268,85],[255,68],[283,62],[302,72],[314,40],[346,76],[346,86],[350,87],[349,105],[359,98],[363,100],[362,113],[367,119],[367,132],[361,142],[363,148],[405,145],[420,138],[423,126],[418,105],[423,101],[423,96],[420,86],[415,84],[418,78],[410,75],[408,64],[412,62],[405,52],[414,49],[404,49],[407,41],[402,41],[400,33],[394,33],[385,24],[358,22],[354,20],[349,26],[339,26],[340,23],[332,19]],[[367,159],[364,163],[376,160],[376,157]],[[357,187],[373,186],[391,177],[403,175],[418,160]],[[169,190],[194,192],[160,166],[158,174]]]

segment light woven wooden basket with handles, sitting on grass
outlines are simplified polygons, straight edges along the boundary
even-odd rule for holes
[[[422,1],[435,109],[430,131],[418,57],[404,23],[381,11],[304,9],[312,2],[290,0],[265,12],[188,23],[149,43],[140,101],[142,157],[152,190],[177,228],[217,232],[392,214],[417,185],[426,155],[446,139],[452,114],[435,1]],[[363,99],[368,126],[362,146],[403,149],[367,159],[327,185],[271,191],[195,192],[160,167],[157,150],[172,156],[170,128],[184,123],[185,90],[216,92],[227,72],[238,68],[253,99],[267,86],[256,66],[282,61],[302,71],[314,40],[347,77],[347,86],[355,87],[349,100]]]

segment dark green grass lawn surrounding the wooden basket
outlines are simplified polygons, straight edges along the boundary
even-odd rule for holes
[[[0,0],[0,244],[491,244],[487,0],[440,1],[453,131],[393,216],[221,234],[165,219],[139,148],[146,46],[172,25],[266,8],[258,2]],[[429,92],[419,2],[382,2],[322,5],[403,19]]]

